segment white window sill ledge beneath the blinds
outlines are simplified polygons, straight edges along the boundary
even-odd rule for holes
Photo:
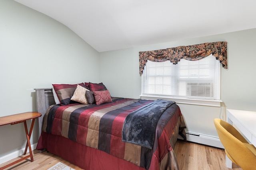
[[[146,100],[172,100],[177,104],[192,104],[192,105],[201,105],[201,106],[214,106],[221,107],[221,100],[203,100],[203,99],[191,99],[191,98],[172,98],[172,97],[163,97],[163,96],[150,96],[150,95],[140,95],[141,99]]]

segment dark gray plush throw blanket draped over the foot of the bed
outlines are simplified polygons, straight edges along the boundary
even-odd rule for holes
[[[122,141],[152,149],[158,120],[174,103],[158,99],[128,114],[124,120]]]

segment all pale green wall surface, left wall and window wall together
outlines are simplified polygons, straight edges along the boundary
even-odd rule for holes
[[[112,96],[139,98],[138,52],[228,42],[221,69],[224,108],[179,104],[189,131],[217,136],[213,119],[225,109],[256,111],[256,29],[98,53],[73,31],[13,0],[0,0],[0,116],[36,111],[33,88],[52,82],[103,82]],[[29,124],[29,123],[28,123]],[[37,142],[37,122],[32,144]],[[22,124],[0,127],[0,157],[24,148]],[[4,146],[4,147],[2,147]]]

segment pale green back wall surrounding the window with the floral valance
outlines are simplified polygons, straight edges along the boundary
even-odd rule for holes
[[[213,119],[225,117],[225,110],[256,111],[256,29],[185,39],[100,53],[100,81],[112,96],[139,98],[139,51],[150,51],[206,42],[228,42],[228,69],[221,68],[221,100],[226,107],[178,104],[188,131],[217,136]]]

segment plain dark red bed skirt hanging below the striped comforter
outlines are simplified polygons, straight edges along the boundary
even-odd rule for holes
[[[117,158],[101,150],[45,132],[42,132],[36,149],[46,149],[48,152],[58,155],[84,170],[145,170],[145,168],[136,166],[131,162]],[[156,159],[156,157],[152,157],[149,170],[179,170],[174,150],[164,156],[161,164],[158,164],[158,160]],[[170,161],[172,167],[170,167]],[[168,163],[165,164],[164,162]]]

